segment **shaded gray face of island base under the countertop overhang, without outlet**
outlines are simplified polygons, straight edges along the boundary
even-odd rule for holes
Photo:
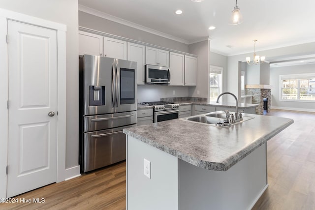
[[[227,171],[179,160],[179,210],[251,210],[266,190],[266,144]]]

